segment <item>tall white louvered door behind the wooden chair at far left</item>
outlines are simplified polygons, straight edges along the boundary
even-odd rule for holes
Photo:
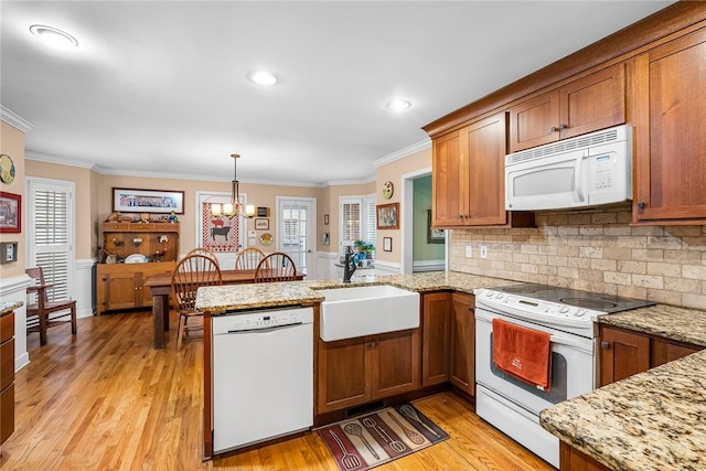
[[[74,184],[28,179],[28,267],[41,267],[53,285],[50,300],[74,299]]]

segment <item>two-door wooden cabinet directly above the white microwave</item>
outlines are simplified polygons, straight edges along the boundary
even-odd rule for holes
[[[625,122],[625,67],[617,64],[510,108],[510,152]]]

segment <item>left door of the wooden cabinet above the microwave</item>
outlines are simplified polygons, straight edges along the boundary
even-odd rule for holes
[[[510,108],[510,152],[559,139],[559,93],[552,90]]]

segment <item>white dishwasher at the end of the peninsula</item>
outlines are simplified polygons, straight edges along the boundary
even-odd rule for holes
[[[313,425],[313,308],[212,318],[213,451]]]

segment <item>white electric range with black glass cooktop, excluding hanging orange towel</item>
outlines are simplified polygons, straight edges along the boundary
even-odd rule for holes
[[[477,414],[558,468],[559,440],[542,428],[539,411],[596,387],[599,314],[650,304],[653,303],[532,283],[475,290]],[[549,390],[538,389],[495,366],[493,319],[552,335]]]

